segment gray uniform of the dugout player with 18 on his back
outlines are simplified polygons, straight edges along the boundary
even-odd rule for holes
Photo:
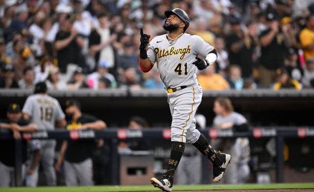
[[[54,130],[55,122],[65,118],[59,102],[49,95],[30,95],[24,104],[23,113],[31,116],[31,122],[38,126],[38,130]],[[41,163],[44,168],[47,184],[56,185],[53,166],[55,140],[41,140]]]

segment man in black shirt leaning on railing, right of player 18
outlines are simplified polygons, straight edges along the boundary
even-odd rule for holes
[[[66,114],[70,117],[67,124],[68,130],[102,130],[106,123],[91,115],[82,114],[81,105],[77,100],[66,101]],[[55,168],[60,172],[64,161],[65,180],[67,186],[93,185],[92,182],[92,152],[95,146],[94,140],[68,140],[63,141],[60,157]],[[77,182],[78,180],[78,182]]]

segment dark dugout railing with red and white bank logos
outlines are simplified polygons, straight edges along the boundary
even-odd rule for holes
[[[306,138],[314,136],[314,127],[255,127],[249,132],[234,132],[232,130],[208,129],[201,131],[209,139],[213,138],[236,138],[249,137],[251,139],[276,138],[277,166],[276,181],[284,182],[284,138]],[[22,139],[56,139],[56,140],[83,140],[83,139],[107,139],[110,140],[111,148],[111,184],[119,184],[119,155],[117,145],[119,140],[127,138],[159,138],[164,141],[170,139],[170,129],[150,128],[145,130],[129,129],[106,129],[94,130],[72,130],[58,129],[54,131],[37,131],[34,133],[23,133]],[[1,132],[0,140],[13,139],[9,132]],[[4,154],[2,154],[4,155]],[[22,186],[22,141],[15,140],[15,176],[16,186]]]

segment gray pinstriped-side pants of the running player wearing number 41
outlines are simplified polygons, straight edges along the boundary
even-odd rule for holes
[[[194,116],[202,101],[202,94],[199,85],[168,93],[172,116],[171,141],[195,143],[199,139],[200,132],[195,129]]]

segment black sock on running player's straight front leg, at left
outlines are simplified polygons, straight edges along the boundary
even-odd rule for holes
[[[185,143],[172,141],[169,166],[165,175],[173,177],[184,152]]]

